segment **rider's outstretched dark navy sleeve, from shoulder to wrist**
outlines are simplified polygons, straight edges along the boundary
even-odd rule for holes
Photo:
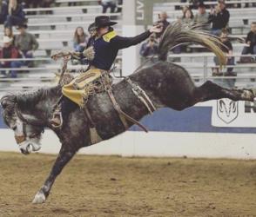
[[[130,46],[143,42],[151,34],[152,33],[150,32],[150,30],[147,30],[144,33],[134,37],[115,36],[114,38],[111,39],[111,44],[116,49],[125,49]]]

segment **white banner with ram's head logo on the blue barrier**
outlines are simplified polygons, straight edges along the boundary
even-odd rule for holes
[[[220,99],[212,105],[212,126],[221,128],[256,128],[256,102]]]

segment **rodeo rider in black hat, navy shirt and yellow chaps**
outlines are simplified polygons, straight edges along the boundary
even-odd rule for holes
[[[102,72],[108,72],[111,69],[112,63],[115,61],[118,55],[118,49],[125,49],[141,43],[146,38],[151,36],[152,33],[159,33],[162,31],[161,27],[153,26],[150,30],[146,30],[144,33],[138,36],[123,37],[118,36],[111,27],[115,24],[117,23],[112,22],[109,16],[97,16],[95,18],[94,26],[96,28],[97,34],[96,36],[91,36],[91,38],[89,39],[89,46],[91,47],[85,49],[84,52],[80,54],[81,58],[87,57],[87,59],[89,59],[89,70],[63,87],[62,93],[64,97],[61,103],[61,108],[59,108],[57,112],[55,112],[53,118],[51,119],[51,124],[53,127],[61,127],[61,113],[63,114],[63,116],[68,115],[71,112],[72,108],[74,108],[74,106],[72,106],[72,104],[74,105],[74,103],[70,102],[75,102],[80,107],[83,107],[84,90],[82,91],[74,89],[74,86],[77,87],[77,83],[75,80],[79,82],[83,81],[83,79],[88,78],[88,74],[91,71],[93,72],[92,74],[96,75],[98,74],[98,72],[99,74]],[[90,55],[88,55],[87,53],[89,53]],[[88,56],[90,57],[88,58]],[[84,74],[86,74],[87,77]],[[91,80],[93,81],[93,79]],[[66,105],[66,102],[69,102],[69,106]]]

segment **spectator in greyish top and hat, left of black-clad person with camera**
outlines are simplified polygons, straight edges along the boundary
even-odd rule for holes
[[[194,18],[194,23],[201,24],[201,30],[211,30],[211,25],[209,23],[209,16],[210,14],[205,10],[205,4],[199,3],[198,13]]]

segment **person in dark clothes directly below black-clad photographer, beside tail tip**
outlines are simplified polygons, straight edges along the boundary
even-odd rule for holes
[[[220,35],[220,41],[224,44],[224,46],[221,47],[222,51],[226,53],[226,64],[228,66],[234,65],[234,56],[232,56],[232,43],[228,40],[228,32],[227,30],[222,30]],[[219,65],[219,59],[217,56],[214,56],[214,62],[216,65]],[[219,68],[216,68],[215,71],[212,73],[213,76],[236,76],[232,72],[233,68],[227,68],[226,73],[223,73],[219,71]],[[223,83],[226,87],[232,88],[234,86],[234,79],[224,79]]]

